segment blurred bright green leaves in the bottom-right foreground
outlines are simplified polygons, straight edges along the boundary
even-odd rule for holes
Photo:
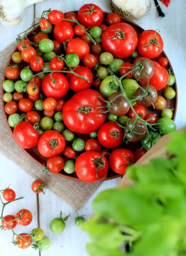
[[[186,129],[172,134],[169,159],[131,166],[134,185],[101,192],[84,224],[91,256],[186,256]]]

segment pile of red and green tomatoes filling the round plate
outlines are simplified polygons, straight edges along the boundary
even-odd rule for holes
[[[147,89],[149,77],[151,100],[156,110],[162,110],[162,118],[150,119],[153,108],[146,114],[146,107],[152,105],[147,96],[132,102],[133,108],[149,123],[162,123],[158,127],[161,134],[174,131],[173,113],[166,109],[166,99],[176,95],[171,88],[175,78],[171,70],[168,73],[165,69],[168,60],[158,58],[163,51],[162,38],[154,30],[138,37],[133,27],[114,13],[107,15],[105,24],[102,9],[93,4],[82,6],[77,15],[50,10],[47,17],[41,18],[41,30],[36,30],[31,41],[19,42],[12,65],[5,71],[3,100],[7,102],[5,112],[14,138],[21,148],[38,148],[48,159],[46,172],[76,172],[85,182],[104,179],[108,166],[113,172],[125,174],[151,143],[143,123],[139,119],[134,123],[133,110],[123,96],[108,108],[120,93],[108,67],[118,77],[128,73],[122,79],[128,99],[143,94],[141,88]],[[154,58],[157,61],[151,61]],[[146,73],[134,72],[140,63]],[[166,99],[157,93],[163,88]],[[141,134],[131,134],[120,125],[133,127]],[[161,136],[155,131],[150,134],[154,145]],[[131,143],[141,141],[143,148],[133,154],[125,148],[124,135]]]

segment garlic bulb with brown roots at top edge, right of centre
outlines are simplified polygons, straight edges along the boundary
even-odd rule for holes
[[[151,9],[151,0],[111,0],[113,11],[130,20],[139,20]]]

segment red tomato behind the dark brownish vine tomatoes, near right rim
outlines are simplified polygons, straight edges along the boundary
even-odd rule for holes
[[[152,61],[154,63],[154,75],[149,79],[149,84],[154,86],[154,88],[158,91],[166,87],[166,84],[169,81],[169,73],[168,71],[160,66],[157,61]],[[147,81],[140,81],[141,85],[147,84]]]

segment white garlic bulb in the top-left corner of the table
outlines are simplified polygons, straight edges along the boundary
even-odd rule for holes
[[[0,0],[0,23],[16,26],[23,18],[24,9],[43,0]]]

